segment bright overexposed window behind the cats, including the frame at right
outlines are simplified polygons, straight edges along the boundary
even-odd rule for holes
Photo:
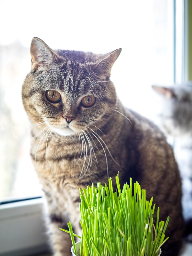
[[[41,196],[29,157],[21,86],[36,36],[52,49],[122,52],[111,80],[121,101],[158,124],[152,84],[192,80],[192,1],[0,1],[0,201]]]

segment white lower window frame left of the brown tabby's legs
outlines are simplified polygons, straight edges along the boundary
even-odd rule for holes
[[[48,249],[43,198],[0,205],[0,256],[22,256]]]

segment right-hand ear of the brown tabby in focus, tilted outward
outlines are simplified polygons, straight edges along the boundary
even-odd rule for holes
[[[113,52],[109,52],[107,55],[105,55],[104,58],[96,64],[95,66],[96,72],[100,75],[109,77],[111,68],[114,62],[116,61],[116,59],[118,58],[121,50],[122,49],[120,48]]]

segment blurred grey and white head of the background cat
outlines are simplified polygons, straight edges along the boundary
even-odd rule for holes
[[[164,132],[175,137],[192,131],[192,85],[152,87],[162,96],[160,118]]]

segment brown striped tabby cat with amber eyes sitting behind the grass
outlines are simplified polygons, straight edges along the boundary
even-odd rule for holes
[[[59,228],[79,226],[79,187],[136,180],[170,222],[162,255],[177,255],[183,219],[181,181],[171,147],[159,129],[116,97],[110,71],[121,49],[107,54],[53,51],[31,42],[32,69],[22,87],[31,126],[31,157],[43,185],[55,256],[71,255]],[[148,199],[149,199],[148,198]]]

